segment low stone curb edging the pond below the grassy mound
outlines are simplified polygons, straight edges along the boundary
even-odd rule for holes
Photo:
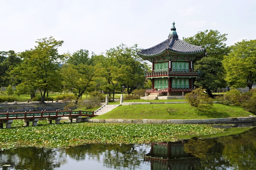
[[[83,122],[97,123],[155,123],[155,124],[218,124],[218,123],[255,123],[256,117],[220,118],[220,119],[83,119]]]

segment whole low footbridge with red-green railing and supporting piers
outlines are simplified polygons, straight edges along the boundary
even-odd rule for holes
[[[69,121],[76,119],[76,123],[81,121],[82,116],[93,117],[94,111],[72,111],[72,110],[56,110],[56,111],[41,111],[41,112],[6,112],[0,113],[0,128],[3,128],[3,124],[6,123],[6,128],[11,128],[11,123],[14,119],[23,119],[24,125],[28,126],[29,122],[32,122],[32,126],[36,126],[39,119],[46,118],[49,124],[55,121],[56,124],[60,123],[61,117],[68,117]]]

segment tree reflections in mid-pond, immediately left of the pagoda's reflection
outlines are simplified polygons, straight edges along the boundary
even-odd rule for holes
[[[85,159],[85,156],[99,161],[102,156],[102,162],[108,168],[122,169],[129,167],[135,169],[143,161],[141,158],[146,154],[146,148],[145,145],[140,147],[140,145],[135,146],[134,144],[87,144],[68,148],[66,153],[76,161]]]

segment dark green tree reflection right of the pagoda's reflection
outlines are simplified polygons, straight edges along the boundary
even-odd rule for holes
[[[184,150],[201,158],[195,169],[217,170],[234,167],[254,170],[256,167],[256,128],[243,134],[215,139],[193,138],[184,144]]]

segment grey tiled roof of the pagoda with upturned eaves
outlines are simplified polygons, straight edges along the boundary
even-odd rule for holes
[[[191,45],[178,39],[177,35],[169,35],[168,39],[148,49],[142,49],[138,52],[140,56],[158,56],[165,51],[173,51],[180,54],[193,54],[204,52],[205,49],[202,46]]]

